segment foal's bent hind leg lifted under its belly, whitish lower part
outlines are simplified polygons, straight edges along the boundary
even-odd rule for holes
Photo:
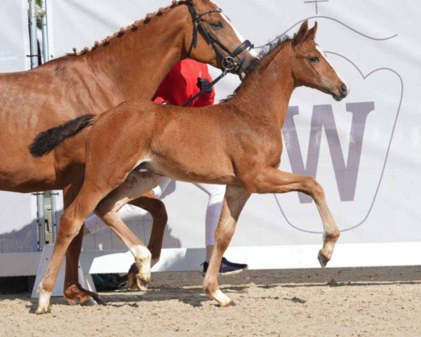
[[[154,173],[133,171],[124,183],[107,195],[95,209],[95,213],[116,233],[135,257],[135,263],[138,267],[137,284],[144,291],[151,279],[152,254],[123,223],[118,213],[121,207],[129,201],[137,199],[140,195],[158,185],[159,178]]]

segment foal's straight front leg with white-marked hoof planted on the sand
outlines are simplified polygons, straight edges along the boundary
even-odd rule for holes
[[[210,256],[205,279],[203,279],[203,289],[206,295],[216,300],[221,307],[227,307],[232,303],[231,298],[222,293],[218,285],[222,256],[231,242],[237,220],[239,220],[240,213],[249,197],[250,194],[243,188],[227,186],[220,220],[215,232],[215,247],[212,256]]]

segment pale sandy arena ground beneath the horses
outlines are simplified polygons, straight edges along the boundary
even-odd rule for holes
[[[218,308],[198,272],[156,273],[147,293],[33,314],[29,294],[0,296],[0,336],[421,336],[421,267],[251,270],[221,277]]]

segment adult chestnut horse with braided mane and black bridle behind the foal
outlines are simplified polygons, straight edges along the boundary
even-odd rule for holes
[[[100,114],[126,100],[151,100],[175,62],[187,56],[222,68],[222,58],[243,40],[220,12],[208,0],[173,1],[114,37],[96,42],[91,51],[84,49],[29,72],[0,74],[0,190],[64,189],[65,207],[69,206],[83,182],[86,141],[69,139],[64,147],[39,159],[27,151],[33,138],[64,121]],[[250,62],[244,48],[238,52],[245,65]],[[83,117],[79,121],[83,124]],[[133,204],[154,216],[152,237],[158,239],[152,239],[156,246],[149,248],[159,252],[159,237],[166,225],[161,201],[142,197]],[[120,230],[124,239],[133,240],[130,231]],[[65,297],[69,303],[91,296],[100,300],[82,289],[77,279],[82,232],[67,251]]]

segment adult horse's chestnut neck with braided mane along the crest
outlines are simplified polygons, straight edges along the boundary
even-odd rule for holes
[[[182,58],[187,6],[178,6],[127,29],[108,46],[81,56],[116,103],[152,99],[171,67]],[[105,82],[105,83],[104,83]]]

